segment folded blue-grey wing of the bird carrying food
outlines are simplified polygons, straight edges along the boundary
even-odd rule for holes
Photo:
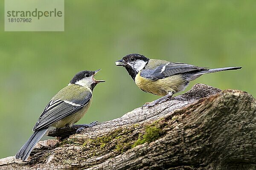
[[[160,65],[154,70],[143,70],[141,72],[141,76],[157,80],[157,79],[163,79],[175,74],[183,74],[183,73],[192,73],[202,70],[208,70],[205,67],[198,67],[195,65],[190,65],[186,63],[181,62],[169,62],[165,65]]]

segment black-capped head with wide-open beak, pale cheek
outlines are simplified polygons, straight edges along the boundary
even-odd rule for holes
[[[81,85],[87,88],[90,88],[93,90],[93,88],[99,83],[99,82],[105,82],[104,80],[96,80],[94,79],[94,75],[100,71],[80,71],[77,73],[73,79],[70,80],[70,84],[76,84]]]

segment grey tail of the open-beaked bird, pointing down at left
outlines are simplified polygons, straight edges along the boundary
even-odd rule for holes
[[[44,136],[44,133],[46,133],[47,129],[42,130],[36,130],[28,139],[28,141],[23,145],[23,147],[20,148],[20,150],[16,153],[15,158],[16,159],[22,159],[25,161],[28,157],[31,151],[33,150],[35,144]]]

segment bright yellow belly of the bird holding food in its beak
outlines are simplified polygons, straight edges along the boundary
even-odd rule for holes
[[[165,96],[168,92],[177,93],[186,88],[186,82],[180,74],[152,81],[141,77],[139,72],[135,77],[135,83],[141,90],[158,96]]]

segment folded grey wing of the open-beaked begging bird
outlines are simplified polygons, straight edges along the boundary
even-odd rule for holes
[[[84,99],[80,100],[51,100],[44,108],[33,130],[49,127],[53,123],[76,113],[90,101],[91,97],[92,94],[89,92],[84,96]]]

